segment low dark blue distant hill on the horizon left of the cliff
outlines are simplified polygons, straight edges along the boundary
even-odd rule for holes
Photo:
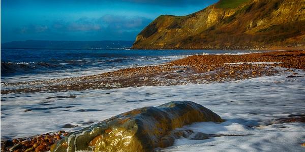
[[[116,49],[130,48],[133,41],[14,41],[1,48],[15,49]]]

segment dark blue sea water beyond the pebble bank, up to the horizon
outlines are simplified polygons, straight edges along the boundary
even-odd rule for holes
[[[1,49],[1,79],[48,73],[77,76],[119,68],[162,64],[195,54],[240,54],[255,51],[130,50],[130,49]]]

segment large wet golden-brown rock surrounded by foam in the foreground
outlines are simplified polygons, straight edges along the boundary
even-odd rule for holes
[[[190,101],[143,107],[70,133],[51,151],[154,151],[174,142],[176,128],[194,122],[222,122],[211,110]]]

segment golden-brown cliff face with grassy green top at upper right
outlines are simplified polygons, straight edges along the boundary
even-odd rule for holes
[[[305,0],[221,0],[187,16],[161,15],[134,49],[260,49],[305,46]]]

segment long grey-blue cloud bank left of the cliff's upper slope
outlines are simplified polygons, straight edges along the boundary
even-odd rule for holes
[[[57,31],[99,31],[103,29],[138,30],[148,25],[152,20],[145,17],[126,17],[104,15],[99,18],[81,17],[75,21],[55,20],[50,25],[29,24],[18,28],[20,33],[40,33],[49,30]]]

